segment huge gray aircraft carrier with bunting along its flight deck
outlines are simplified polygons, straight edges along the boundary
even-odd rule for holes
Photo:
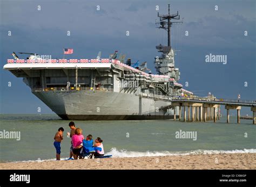
[[[172,97],[193,95],[179,84],[179,69],[171,47],[173,19],[179,13],[159,15],[159,28],[167,31],[168,45],[156,46],[161,54],[154,59],[157,75],[146,62],[132,63],[117,51],[108,58],[43,59],[31,54],[27,59],[8,59],[4,69],[23,82],[62,119],[142,120],[171,119],[176,107]],[[149,72],[147,72],[149,71]],[[170,107],[169,107],[170,106]]]

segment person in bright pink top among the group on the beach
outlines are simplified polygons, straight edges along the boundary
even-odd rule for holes
[[[72,144],[73,144],[72,153],[75,160],[78,159],[80,150],[83,147],[84,135],[82,134],[82,132],[83,132],[82,129],[76,128],[75,134],[72,135]]]

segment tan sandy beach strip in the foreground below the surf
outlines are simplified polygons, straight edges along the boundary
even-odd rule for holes
[[[256,169],[255,153],[0,163],[0,169]]]

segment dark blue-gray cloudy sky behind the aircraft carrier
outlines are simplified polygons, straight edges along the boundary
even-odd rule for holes
[[[172,28],[176,66],[181,72],[179,83],[188,82],[184,88],[199,96],[210,91],[218,98],[237,98],[240,93],[242,99],[256,99],[255,1],[0,2],[1,67],[6,59],[12,59],[14,51],[61,58],[63,47],[70,47],[74,49],[71,59],[95,58],[99,51],[108,57],[118,50],[132,61],[147,61],[156,73],[153,60],[159,53],[155,46],[167,35],[154,25],[158,20],[156,6],[164,14],[171,4],[171,13],[178,10],[184,18],[182,25]],[[67,31],[71,32],[69,37]],[[227,55],[227,64],[206,63],[205,55],[210,53]],[[22,78],[2,68],[0,73],[0,113],[37,113],[37,107],[41,107],[41,113],[52,113]],[[242,109],[241,114],[247,113],[251,114],[249,108]]]

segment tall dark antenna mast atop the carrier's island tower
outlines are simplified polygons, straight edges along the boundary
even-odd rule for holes
[[[170,4],[168,4],[168,15],[159,15],[157,12],[157,17],[160,18],[160,23],[158,28],[163,28],[168,32],[168,47],[171,46],[171,26],[172,24],[182,24],[183,21],[171,21],[171,19],[180,19],[179,12],[170,15]]]

